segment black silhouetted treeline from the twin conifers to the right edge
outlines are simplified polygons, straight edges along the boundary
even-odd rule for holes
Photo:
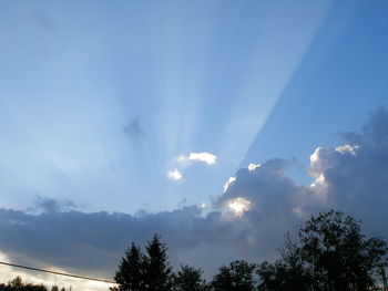
[[[275,262],[237,260],[221,267],[210,282],[201,269],[190,266],[173,273],[166,251],[157,235],[145,253],[132,242],[111,291],[384,290],[388,262],[384,240],[365,238],[359,221],[334,210],[312,217],[294,237],[287,233]]]

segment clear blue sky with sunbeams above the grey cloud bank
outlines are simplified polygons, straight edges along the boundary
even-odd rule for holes
[[[317,147],[366,141],[385,116],[387,9],[1,1],[0,207],[211,212],[229,177],[272,158],[309,185]]]

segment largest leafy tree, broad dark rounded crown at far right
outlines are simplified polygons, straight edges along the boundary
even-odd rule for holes
[[[386,260],[386,242],[365,239],[359,221],[330,210],[312,217],[299,231],[303,257],[320,290],[368,290]]]

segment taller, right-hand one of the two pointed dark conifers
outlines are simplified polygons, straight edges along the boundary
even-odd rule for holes
[[[143,263],[144,290],[170,291],[172,288],[172,272],[167,261],[167,248],[161,242],[161,237],[154,235],[146,246],[146,256]]]

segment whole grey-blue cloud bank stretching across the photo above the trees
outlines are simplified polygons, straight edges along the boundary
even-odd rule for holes
[[[202,267],[207,276],[222,263],[270,259],[292,230],[313,212],[336,208],[364,220],[365,230],[387,239],[388,112],[378,108],[361,133],[341,133],[337,147],[310,156],[309,185],[285,174],[293,162],[270,159],[239,169],[207,215],[197,206],[157,214],[0,210],[0,251],[14,262],[57,266],[112,278],[124,248],[162,235],[173,264]]]

